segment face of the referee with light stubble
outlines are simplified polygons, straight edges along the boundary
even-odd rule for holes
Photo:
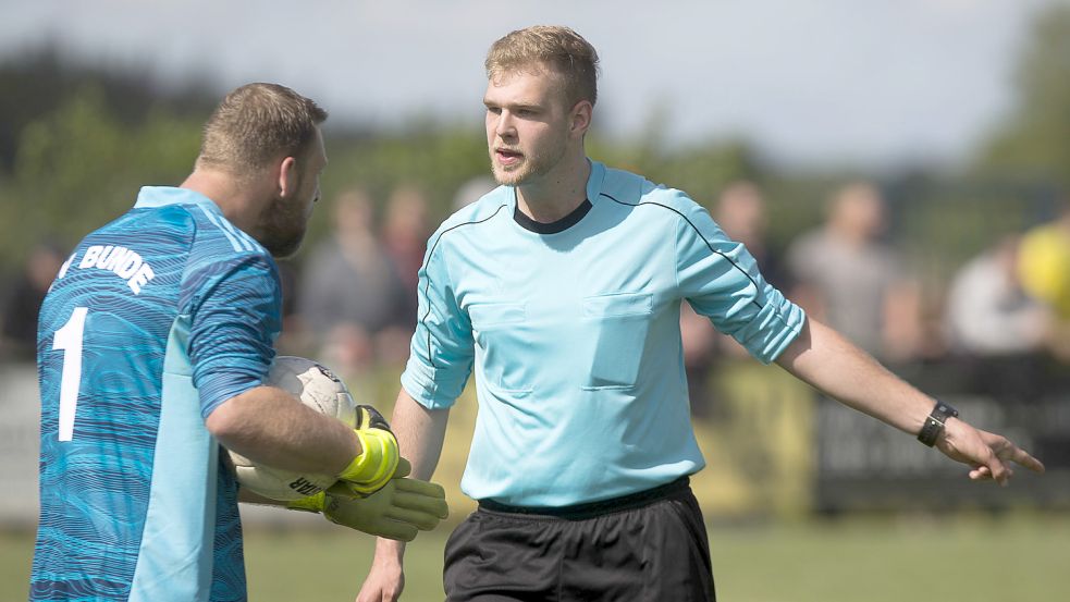
[[[544,67],[491,76],[483,96],[487,146],[499,184],[518,186],[551,173],[568,145],[568,114]]]

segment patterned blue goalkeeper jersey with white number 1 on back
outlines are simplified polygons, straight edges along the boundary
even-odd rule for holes
[[[274,260],[188,189],[145,187],[41,306],[30,600],[245,600],[237,483],[205,418],[261,383]]]

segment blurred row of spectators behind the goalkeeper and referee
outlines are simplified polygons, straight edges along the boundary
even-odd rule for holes
[[[476,177],[453,208],[494,183]],[[699,199],[700,201],[704,199]],[[1037,395],[1043,373],[1070,367],[1070,201],[1020,232],[992,239],[933,291],[903,257],[888,228],[888,207],[872,182],[827,192],[823,223],[800,230],[783,248],[767,231],[777,220],[755,183],[736,181],[704,205],[733,239],[747,246],[767,281],[807,311],[886,364],[946,367],[974,392]],[[417,320],[417,281],[439,218],[419,185],[384,198],[359,186],[321,201],[329,230],[280,262],[284,287],[281,354],[315,357],[349,378],[399,372]],[[3,283],[0,357],[34,360],[37,310],[69,249],[44,241]],[[746,352],[710,321],[681,307],[692,409],[715,405],[711,376]],[[1058,368],[1057,368],[1058,369]]]

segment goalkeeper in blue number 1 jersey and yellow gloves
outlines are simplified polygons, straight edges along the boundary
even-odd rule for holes
[[[440,487],[392,478],[408,468],[385,421],[354,431],[261,384],[281,329],[272,257],[297,250],[319,198],[325,119],[283,86],[232,91],[186,181],[142,188],[61,268],[38,330],[30,600],[245,600],[220,444],[339,475],[339,494],[297,504],[335,523],[411,539],[444,516]]]

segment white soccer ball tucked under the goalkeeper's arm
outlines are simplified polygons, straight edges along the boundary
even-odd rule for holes
[[[302,403],[356,428],[356,403],[342,379],[322,365],[295,356],[278,356],[265,384],[293,393]],[[270,500],[292,501],[315,495],[337,480],[332,475],[282,470],[229,451],[234,472],[243,488]]]

